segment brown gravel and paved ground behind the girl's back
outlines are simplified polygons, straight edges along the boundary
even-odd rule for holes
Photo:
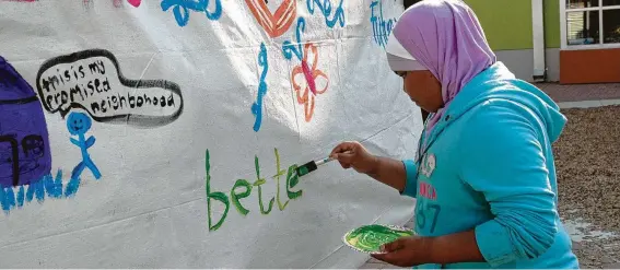
[[[619,269],[620,146],[609,145],[620,141],[620,106],[596,107],[620,104],[620,84],[537,86],[558,102],[569,118],[554,151],[560,214],[573,250],[582,268]],[[361,269],[398,268],[371,259]]]

